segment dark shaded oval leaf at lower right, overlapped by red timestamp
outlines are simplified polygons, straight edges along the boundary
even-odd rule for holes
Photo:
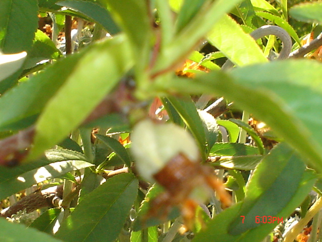
[[[285,144],[272,149],[255,169],[244,203],[228,232],[237,235],[259,226],[256,216],[277,216],[296,193],[304,170],[302,160]]]

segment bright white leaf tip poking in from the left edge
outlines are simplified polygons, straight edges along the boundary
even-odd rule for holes
[[[17,54],[3,54],[0,51],[0,81],[18,71],[22,67],[26,56],[25,51]]]

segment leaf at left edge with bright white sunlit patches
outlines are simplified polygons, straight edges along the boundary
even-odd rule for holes
[[[15,168],[1,167],[0,199],[71,170],[93,165],[86,160],[86,157],[81,153],[60,149],[47,151],[45,158],[35,162],[25,163]]]

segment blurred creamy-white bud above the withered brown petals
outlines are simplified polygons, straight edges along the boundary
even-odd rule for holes
[[[142,120],[134,127],[131,141],[138,172],[150,182],[154,182],[155,173],[180,153],[191,161],[199,160],[199,150],[191,134],[172,123]]]

